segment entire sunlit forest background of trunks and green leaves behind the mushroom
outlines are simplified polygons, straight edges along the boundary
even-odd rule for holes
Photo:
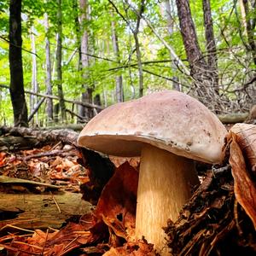
[[[3,0],[0,123],[84,123],[164,89],[247,112],[255,24],[254,0]]]

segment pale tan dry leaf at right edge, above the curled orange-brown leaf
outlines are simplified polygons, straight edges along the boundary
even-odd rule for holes
[[[236,124],[231,131],[236,133],[236,141],[256,176],[256,125]]]

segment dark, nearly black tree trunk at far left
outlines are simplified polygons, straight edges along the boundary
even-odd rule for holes
[[[11,0],[9,4],[10,96],[15,126],[28,126],[21,47],[21,0]]]

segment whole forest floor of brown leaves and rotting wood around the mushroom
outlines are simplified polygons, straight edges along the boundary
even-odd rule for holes
[[[248,131],[246,145],[230,133],[223,166],[198,165],[201,186],[166,224],[173,255],[255,254],[255,127]],[[131,239],[139,159],[110,161],[65,138],[36,148],[23,138],[23,149],[0,143],[0,255],[157,255]]]

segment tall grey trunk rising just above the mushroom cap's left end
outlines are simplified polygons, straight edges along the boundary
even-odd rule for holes
[[[89,32],[86,27],[84,27],[84,23],[88,20],[88,1],[87,0],[80,0],[80,9],[81,9],[81,31],[82,38],[81,38],[81,66],[84,69],[83,78],[84,84],[82,85],[83,93],[81,96],[81,102],[89,102],[92,103],[92,88],[88,85],[88,71],[86,70],[90,63],[89,63]],[[94,115],[93,110],[91,108],[79,108],[79,115],[83,116],[85,119],[91,119]]]

